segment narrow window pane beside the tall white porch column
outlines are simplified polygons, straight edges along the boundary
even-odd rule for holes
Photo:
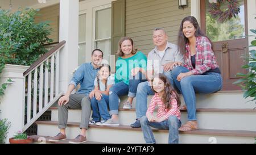
[[[85,63],[86,14],[79,15],[79,65]]]

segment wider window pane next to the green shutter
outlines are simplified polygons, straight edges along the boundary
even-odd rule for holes
[[[104,52],[104,59],[110,63],[111,8],[95,11],[94,47]]]

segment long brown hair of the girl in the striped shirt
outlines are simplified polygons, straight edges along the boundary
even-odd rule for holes
[[[164,76],[164,74],[162,73],[159,73],[159,74],[156,74],[154,76],[154,78],[151,80],[151,82],[154,81],[155,78],[159,78],[161,79],[163,82],[164,82],[164,94],[163,94],[163,97],[161,98],[161,100],[163,101],[164,103],[164,107],[168,110],[171,108],[171,99],[176,99],[177,100],[177,106],[179,107],[181,102],[180,102],[180,98],[179,98],[179,95],[177,94],[177,92],[175,91],[175,89],[172,87],[171,85],[171,82],[168,80],[168,78],[166,76]],[[152,90],[157,93],[155,90],[154,90],[154,87],[152,87]]]

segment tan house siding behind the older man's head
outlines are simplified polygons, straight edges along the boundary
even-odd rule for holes
[[[177,43],[181,20],[191,15],[190,0],[185,9],[176,0],[126,0],[126,36],[134,40],[135,48],[147,54],[154,48],[152,30],[163,27],[168,41]]]

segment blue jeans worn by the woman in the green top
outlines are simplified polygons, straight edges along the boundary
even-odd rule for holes
[[[146,79],[143,77],[144,75],[139,72],[134,77],[131,77],[129,80],[129,85],[127,85],[125,82],[118,82],[115,83],[114,86],[112,86],[109,90],[109,109],[111,115],[117,115],[118,114],[118,97],[127,95],[128,97],[136,97],[137,94],[137,87],[139,83],[146,81]]]

